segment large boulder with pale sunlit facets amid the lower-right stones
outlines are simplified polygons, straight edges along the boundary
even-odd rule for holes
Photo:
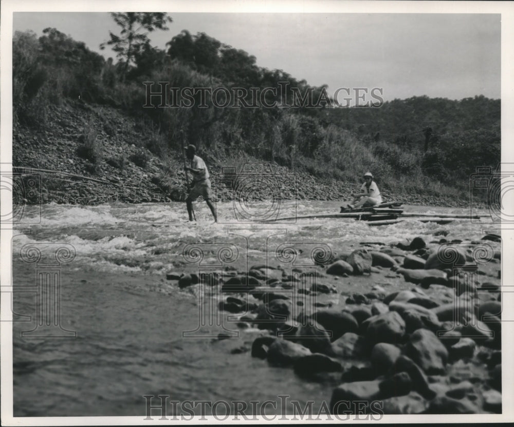
[[[417,329],[403,351],[428,375],[446,372],[448,350],[428,329]]]

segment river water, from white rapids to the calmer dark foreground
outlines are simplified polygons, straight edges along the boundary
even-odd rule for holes
[[[338,212],[339,205],[284,202],[277,208],[283,217]],[[247,329],[237,340],[182,338],[183,331],[198,325],[198,285],[179,289],[176,281],[166,280],[166,273],[197,271],[198,264],[183,257],[184,248],[203,248],[203,262],[209,264],[216,262],[221,246],[232,244],[237,258],[233,265],[241,270],[266,262],[270,248],[284,243],[305,247],[305,254],[320,244],[337,252],[361,242],[408,242],[416,236],[430,241],[441,228],[450,230],[449,238],[478,240],[484,228],[484,223],[469,220],[449,225],[407,220],[380,227],[334,218],[266,224],[242,220],[245,212],[254,218],[268,215],[265,202],[219,203],[220,222],[213,224],[205,203],[195,207],[198,222],[193,225],[186,221],[181,203],[44,205],[40,221],[37,208],[26,209],[27,222],[39,223],[12,239],[13,284],[16,289],[34,289],[23,288],[35,284],[37,266],[22,260],[24,248],[38,247],[42,263],[56,247],[75,250],[75,257],[61,265],[60,324],[75,331],[76,338],[21,337],[22,331],[35,327],[36,294],[13,294],[14,320],[19,320],[13,323],[15,416],[144,416],[142,396],[159,394],[178,401],[277,401],[279,395],[300,402],[328,401],[332,386],[302,380],[249,352],[230,354],[236,347],[250,347],[261,331]],[[405,208],[469,213],[459,208]],[[342,304],[334,298],[335,304]],[[207,326],[205,331],[216,336],[221,328]]]

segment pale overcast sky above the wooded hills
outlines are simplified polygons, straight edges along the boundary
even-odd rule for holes
[[[499,14],[169,13],[169,31],[151,33],[166,48],[187,29],[205,32],[308,84],[383,88],[383,98],[501,96]],[[104,56],[119,33],[108,13],[16,12],[13,32],[55,27]]]

